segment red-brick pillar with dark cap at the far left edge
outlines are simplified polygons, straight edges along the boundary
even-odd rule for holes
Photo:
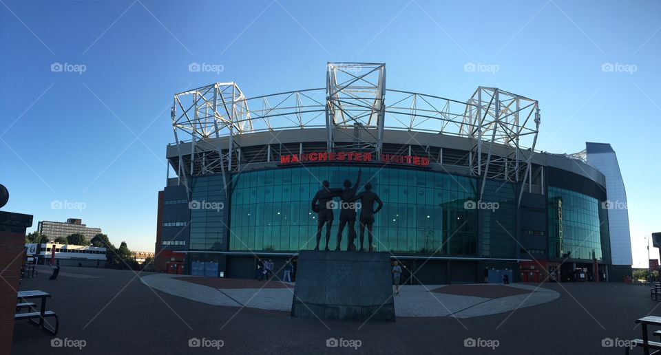
[[[0,211],[0,354],[11,354],[14,313],[25,260],[25,229],[32,226],[32,215]]]

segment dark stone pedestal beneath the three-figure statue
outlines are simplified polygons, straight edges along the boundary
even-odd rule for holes
[[[291,316],[395,321],[387,252],[302,250]]]

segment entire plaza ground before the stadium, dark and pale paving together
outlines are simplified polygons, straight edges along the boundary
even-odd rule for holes
[[[74,267],[49,281],[39,270],[20,290],[50,292],[57,338],[85,346],[52,347],[20,321],[13,354],[623,354],[602,342],[640,338],[636,319],[661,315],[647,287],[545,283],[403,286],[395,323],[319,321],[292,319],[293,289],[278,281]]]

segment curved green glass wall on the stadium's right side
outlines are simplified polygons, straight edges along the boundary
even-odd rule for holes
[[[610,262],[608,219],[594,197],[549,186],[549,258]]]

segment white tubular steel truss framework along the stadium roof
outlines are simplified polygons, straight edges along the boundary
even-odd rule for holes
[[[234,82],[198,87],[174,96],[171,119],[178,157],[170,164],[187,186],[189,176],[240,169],[244,133],[325,128],[326,150],[378,155],[387,129],[474,140],[466,165],[482,178],[480,198],[485,180],[494,179],[521,184],[519,202],[524,189],[532,191],[540,124],[536,100],[494,87],[478,87],[465,102],[386,89],[384,63],[328,63],[324,88],[251,98]],[[270,148],[267,154],[272,161]]]

